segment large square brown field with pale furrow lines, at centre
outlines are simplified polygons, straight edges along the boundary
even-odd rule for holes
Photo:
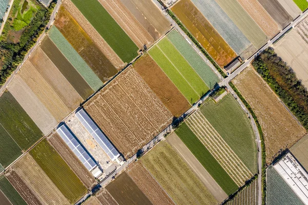
[[[84,108],[125,157],[135,154],[172,120],[170,111],[132,67]]]

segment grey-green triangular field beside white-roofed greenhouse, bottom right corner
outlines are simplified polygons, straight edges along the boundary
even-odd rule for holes
[[[268,205],[303,205],[293,190],[287,185],[283,178],[277,173],[273,166],[266,171],[266,204]]]

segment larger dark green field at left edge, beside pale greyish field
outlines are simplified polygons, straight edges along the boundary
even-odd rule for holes
[[[23,150],[43,136],[10,92],[4,92],[0,97],[0,124]]]

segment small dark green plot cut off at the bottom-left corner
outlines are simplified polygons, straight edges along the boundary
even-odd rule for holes
[[[21,195],[18,194],[3,175],[0,175],[0,190],[14,205],[27,205]]]

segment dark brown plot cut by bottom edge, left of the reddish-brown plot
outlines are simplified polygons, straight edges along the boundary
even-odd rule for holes
[[[120,205],[152,204],[126,172],[123,172],[114,181],[111,181],[106,189]]]

